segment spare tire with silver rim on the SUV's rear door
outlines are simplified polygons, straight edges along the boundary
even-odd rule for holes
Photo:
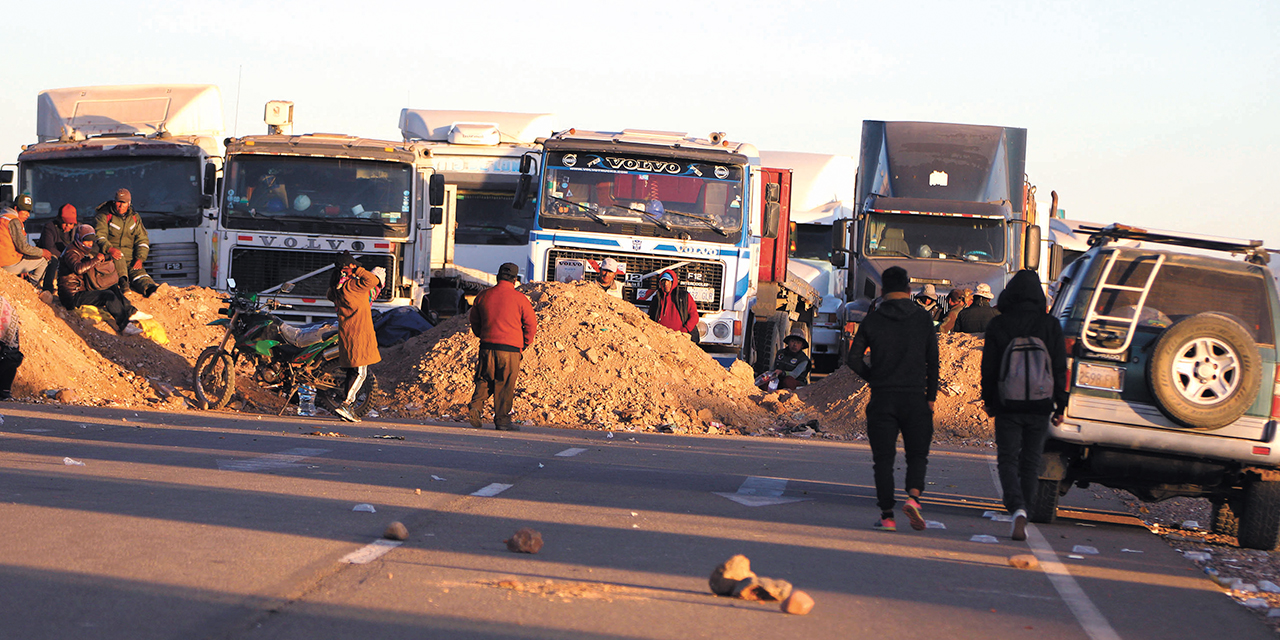
[[[1156,338],[1147,385],[1170,420],[1192,429],[1220,429],[1244,415],[1262,385],[1258,347],[1225,314],[1184,317]]]

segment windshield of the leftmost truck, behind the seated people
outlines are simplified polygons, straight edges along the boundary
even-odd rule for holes
[[[93,209],[127,188],[133,209],[148,229],[197,227],[200,212],[198,157],[96,157],[40,160],[22,164],[22,189],[31,195],[31,220],[42,223],[63,205],[76,206],[82,220]],[[40,228],[40,224],[28,227]]]

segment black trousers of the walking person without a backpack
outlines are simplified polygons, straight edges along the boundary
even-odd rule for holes
[[[876,476],[876,504],[881,511],[893,511],[893,461],[897,458],[897,435],[902,434],[906,458],[906,490],[924,493],[924,472],[929,467],[929,444],[933,443],[933,412],[923,392],[872,390],[867,403],[867,442],[872,445],[872,470]]]

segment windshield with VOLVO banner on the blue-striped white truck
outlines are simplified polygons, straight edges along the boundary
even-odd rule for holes
[[[544,229],[722,243],[741,234],[741,166],[556,151],[543,179]]]

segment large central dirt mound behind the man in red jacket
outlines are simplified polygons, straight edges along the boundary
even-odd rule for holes
[[[593,283],[521,287],[538,315],[524,353],[516,419],[586,429],[759,433],[813,412],[792,393],[762,394],[687,337]],[[471,399],[480,340],[465,316],[383,351],[374,367],[389,411],[461,420]],[[741,370],[741,367],[739,367]],[[492,407],[492,404],[490,404]],[[486,421],[489,419],[486,417]]]

